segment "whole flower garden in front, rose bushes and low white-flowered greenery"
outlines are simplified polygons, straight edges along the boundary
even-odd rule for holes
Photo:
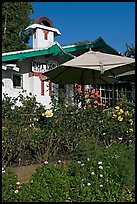
[[[77,90],[74,104],[62,95],[49,110],[31,93],[5,94],[2,202],[135,201],[135,104],[123,93],[113,107],[100,97]],[[12,172],[33,164],[40,166],[26,183]]]

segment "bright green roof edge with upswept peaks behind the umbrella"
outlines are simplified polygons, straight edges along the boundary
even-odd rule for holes
[[[30,49],[30,50],[22,50],[16,52],[9,52],[2,54],[2,62],[8,61],[22,61],[26,58],[30,57],[37,57],[42,55],[51,55],[51,56],[63,56],[64,58],[70,60],[73,59],[74,56],[78,56],[83,54],[84,52],[88,51],[89,48],[93,49],[94,51],[101,51],[110,54],[120,55],[118,51],[113,49],[109,46],[101,37],[95,40],[92,43],[86,43],[82,45],[69,45],[61,47],[59,43],[55,43],[53,46],[49,47],[48,49]]]

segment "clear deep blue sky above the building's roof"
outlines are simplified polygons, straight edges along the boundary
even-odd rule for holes
[[[45,16],[61,32],[60,45],[102,37],[120,53],[135,45],[135,2],[31,2],[34,20]],[[32,46],[32,39],[29,43]]]

